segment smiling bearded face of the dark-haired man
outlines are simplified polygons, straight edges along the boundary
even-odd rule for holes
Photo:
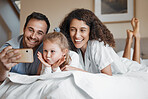
[[[31,19],[24,28],[23,47],[35,49],[40,45],[47,31],[47,24],[43,20]]]

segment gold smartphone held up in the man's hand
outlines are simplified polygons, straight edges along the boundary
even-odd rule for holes
[[[10,51],[15,50],[11,49]],[[14,63],[32,63],[34,61],[33,58],[33,49],[28,49],[28,48],[22,48],[22,49],[17,49],[19,50],[18,53],[21,54],[21,58],[13,61]],[[16,54],[18,55],[18,54]],[[16,56],[14,55],[14,56]]]

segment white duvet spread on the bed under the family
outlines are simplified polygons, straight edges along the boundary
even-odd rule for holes
[[[108,76],[80,71],[41,76],[10,73],[0,99],[148,99],[148,73]]]

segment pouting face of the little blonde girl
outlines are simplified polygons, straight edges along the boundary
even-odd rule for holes
[[[57,43],[46,40],[43,44],[43,58],[48,64],[54,64],[65,55]]]

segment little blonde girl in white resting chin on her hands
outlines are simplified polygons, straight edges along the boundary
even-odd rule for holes
[[[79,56],[69,51],[68,41],[61,32],[48,33],[43,39],[43,55],[40,52],[37,55],[42,63],[39,65],[38,74],[59,72],[66,65],[73,68],[80,66]]]

